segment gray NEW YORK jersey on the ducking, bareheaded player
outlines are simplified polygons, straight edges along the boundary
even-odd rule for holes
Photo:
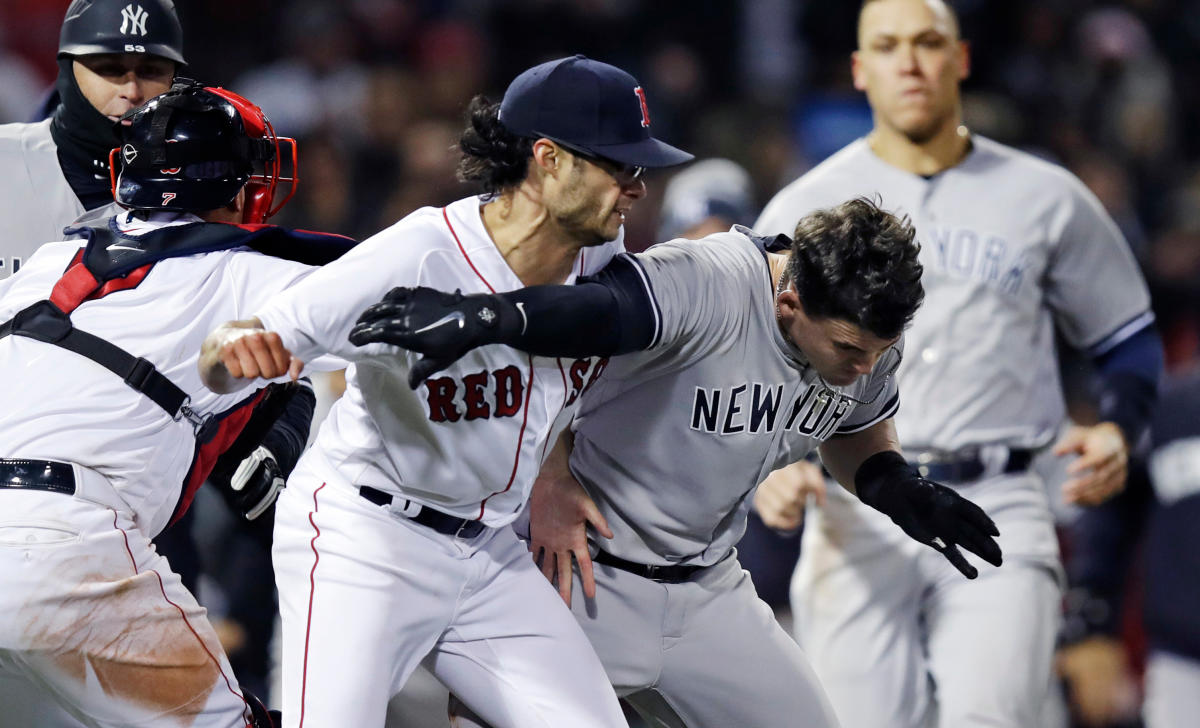
[[[894,378],[826,387],[785,342],[761,239],[745,228],[673,240],[636,265],[660,314],[652,349],[616,356],[576,415],[571,470],[643,564],[715,564],[742,537],[746,498],[834,433],[884,420]],[[870,405],[858,399],[878,396]]]

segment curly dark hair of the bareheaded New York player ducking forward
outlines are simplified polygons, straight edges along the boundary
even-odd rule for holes
[[[925,297],[916,235],[907,217],[865,197],[817,210],[796,224],[786,281],[809,317],[895,338]]]

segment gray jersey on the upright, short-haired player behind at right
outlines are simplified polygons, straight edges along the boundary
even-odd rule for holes
[[[1045,444],[1064,416],[1055,326],[1099,353],[1152,320],[1128,246],[1084,185],[973,139],[960,164],[928,180],[860,139],[780,191],[755,225],[791,234],[809,211],[858,195],[912,218],[925,303],[899,372],[905,447]]]

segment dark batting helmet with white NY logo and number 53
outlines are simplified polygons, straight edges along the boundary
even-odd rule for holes
[[[59,58],[95,53],[149,53],[186,65],[175,4],[73,0],[59,32]]]

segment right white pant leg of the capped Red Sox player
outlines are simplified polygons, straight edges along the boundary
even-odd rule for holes
[[[600,661],[511,529],[479,552],[426,667],[493,728],[625,728]]]

